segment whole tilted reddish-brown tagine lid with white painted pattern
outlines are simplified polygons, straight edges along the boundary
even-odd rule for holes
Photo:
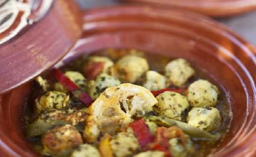
[[[68,0],[0,1],[0,94],[58,62],[81,36],[81,16]]]

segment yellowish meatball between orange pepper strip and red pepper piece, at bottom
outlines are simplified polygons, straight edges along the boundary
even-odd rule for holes
[[[110,141],[111,149],[116,157],[128,157],[138,149],[139,142],[133,132],[120,132]]]

